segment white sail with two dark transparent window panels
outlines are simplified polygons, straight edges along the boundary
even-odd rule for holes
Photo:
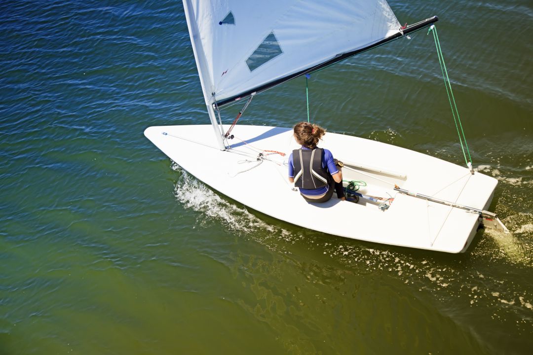
[[[400,28],[385,0],[183,4],[207,104],[367,47]]]

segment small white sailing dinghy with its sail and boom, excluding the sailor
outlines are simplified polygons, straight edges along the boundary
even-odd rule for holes
[[[362,241],[459,253],[483,224],[506,230],[487,211],[497,180],[470,163],[326,133],[320,145],[344,163],[344,186],[359,201],[309,203],[287,178],[288,156],[299,148],[292,128],[236,125],[265,90],[432,26],[437,16],[401,26],[385,0],[183,0],[183,7],[211,124],[153,126],[144,135],[189,174],[279,220]],[[223,124],[220,110],[236,104],[243,109]]]

